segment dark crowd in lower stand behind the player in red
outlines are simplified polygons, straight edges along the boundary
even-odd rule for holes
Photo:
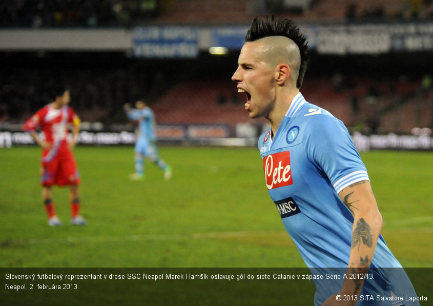
[[[3,69],[0,121],[23,123],[26,117],[54,100],[52,89],[58,83],[70,89],[71,106],[83,120],[122,121],[125,118],[119,110],[126,101],[133,101],[143,91],[151,93],[147,77],[131,66]]]

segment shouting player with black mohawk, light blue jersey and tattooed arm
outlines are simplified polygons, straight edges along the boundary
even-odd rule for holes
[[[288,19],[255,18],[232,80],[246,94],[250,117],[269,120],[258,140],[266,187],[307,267],[374,275],[314,280],[315,305],[390,305],[362,297],[415,296],[380,234],[382,216],[347,129],[300,92],[309,62],[305,40]]]

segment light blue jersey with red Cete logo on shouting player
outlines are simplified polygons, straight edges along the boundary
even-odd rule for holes
[[[308,268],[344,268],[340,271],[346,272],[354,218],[338,193],[355,182],[369,180],[347,129],[342,121],[298,93],[273,139],[271,133],[269,129],[260,136],[258,147],[266,187],[286,231]],[[382,236],[370,267],[401,268]],[[394,288],[389,287],[393,279],[383,275],[386,271],[378,272],[382,276],[372,284],[366,281],[363,292],[383,293],[385,288]],[[403,274],[402,280],[408,281],[413,290]],[[342,282],[336,280],[333,289],[315,282],[316,304],[337,293]]]

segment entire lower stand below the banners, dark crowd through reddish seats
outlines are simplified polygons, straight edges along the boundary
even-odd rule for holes
[[[121,65],[120,65],[121,66]],[[23,123],[49,100],[54,67],[22,67],[0,72],[0,121]],[[133,101],[137,92],[155,90],[155,80],[146,69],[125,67],[68,67],[60,79],[73,85],[74,108],[83,121],[105,124],[125,123],[122,105]],[[353,77],[344,86],[328,76],[309,76],[302,93],[341,119],[347,126],[364,133],[410,133],[414,127],[433,123],[433,89],[422,86],[422,78],[404,76],[381,80]],[[244,111],[244,96],[225,80],[179,79],[173,86],[162,86],[152,99],[158,123],[226,124],[250,122]],[[422,111],[421,111],[422,110]],[[256,122],[254,122],[256,123]]]

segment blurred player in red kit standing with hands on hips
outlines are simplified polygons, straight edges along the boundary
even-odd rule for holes
[[[42,148],[41,184],[42,198],[48,213],[50,226],[61,226],[61,221],[54,210],[51,188],[69,186],[69,200],[71,203],[71,224],[86,225],[86,220],[78,213],[79,175],[72,149],[75,147],[80,119],[74,110],[68,106],[70,92],[64,87],[55,90],[55,100],[38,110],[25,123],[23,130],[31,134]],[[72,124],[72,139],[68,142],[68,127]],[[44,138],[39,137],[36,130],[40,127]]]

